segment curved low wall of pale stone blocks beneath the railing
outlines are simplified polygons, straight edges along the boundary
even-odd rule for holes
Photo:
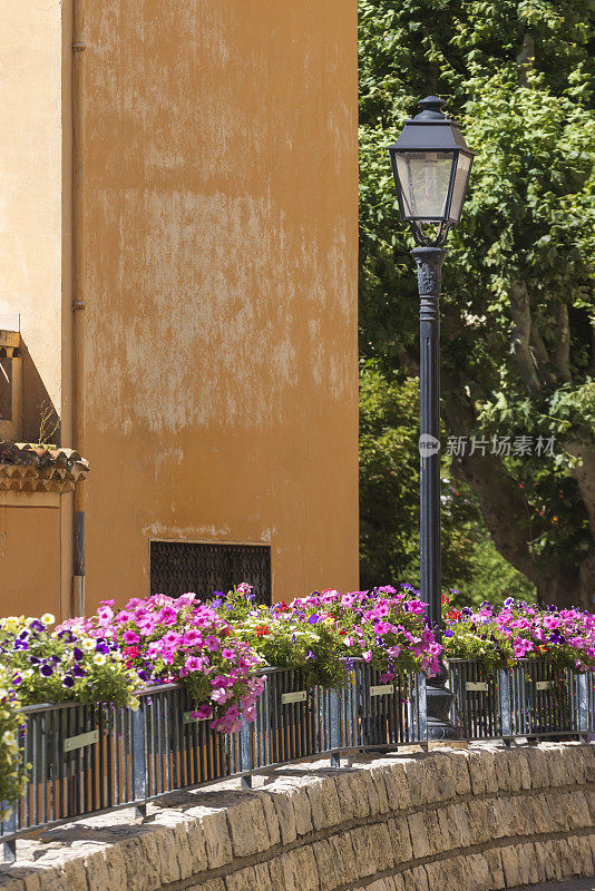
[[[496,891],[595,875],[595,746],[275,771],[20,842],[1,891]]]

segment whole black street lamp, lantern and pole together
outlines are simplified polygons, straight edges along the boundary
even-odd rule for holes
[[[430,623],[441,633],[440,591],[440,276],[445,244],[460,219],[474,153],[458,125],[446,117],[446,105],[428,96],[421,111],[407,120],[389,147],[401,216],[411,225],[416,244],[420,297],[420,570],[421,595]],[[456,740],[449,723],[452,694],[446,689],[442,665],[428,684],[430,740]]]

